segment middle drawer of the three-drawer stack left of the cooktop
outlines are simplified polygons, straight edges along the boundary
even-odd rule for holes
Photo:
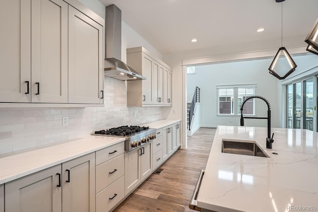
[[[96,166],[96,194],[124,175],[124,155],[121,154]]]

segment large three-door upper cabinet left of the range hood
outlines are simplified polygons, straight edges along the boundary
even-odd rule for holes
[[[103,25],[77,0],[1,0],[0,107],[103,104]]]

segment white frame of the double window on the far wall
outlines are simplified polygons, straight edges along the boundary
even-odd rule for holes
[[[224,117],[239,117],[239,88],[254,88],[254,95],[257,95],[257,84],[236,84],[236,85],[217,85],[217,116],[224,116]],[[233,114],[220,114],[220,96],[219,90],[220,89],[234,89],[233,91]],[[253,105],[253,112],[254,114],[243,114],[244,116],[249,117],[256,117],[256,101],[254,101]]]

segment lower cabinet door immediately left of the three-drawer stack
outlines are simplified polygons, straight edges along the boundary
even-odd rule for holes
[[[95,212],[95,153],[62,164],[64,212]]]

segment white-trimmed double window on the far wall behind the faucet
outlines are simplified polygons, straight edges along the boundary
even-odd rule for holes
[[[217,86],[218,114],[240,115],[240,106],[249,96],[254,96],[255,84],[249,85],[224,85]],[[244,115],[255,115],[254,99],[247,100],[244,104]]]

